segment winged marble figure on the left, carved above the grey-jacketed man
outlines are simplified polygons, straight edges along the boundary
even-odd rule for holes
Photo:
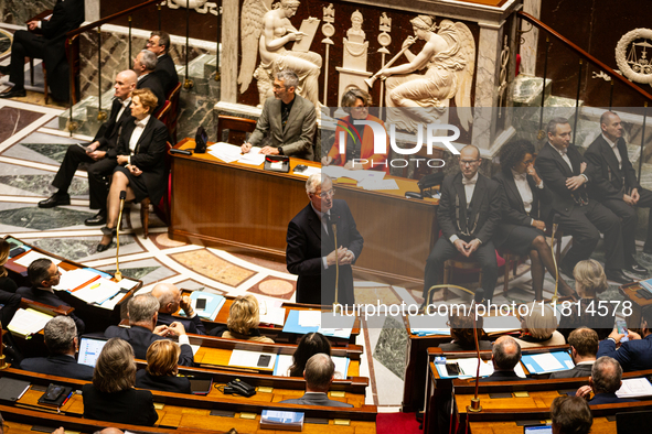
[[[285,68],[290,68],[299,76],[297,94],[314,104],[319,108],[319,74],[322,58],[310,51],[298,51],[297,44],[303,37],[312,37],[298,31],[290,18],[297,13],[298,0],[281,0],[270,8],[270,0],[245,0],[241,15],[242,63],[238,75],[241,94],[245,93],[252,78],[258,82],[260,106],[271,96],[274,75]],[[318,19],[304,20],[314,24]],[[316,29],[316,26],[313,26]],[[288,51],[285,45],[295,41],[295,48]],[[256,67],[257,54],[260,64]]]

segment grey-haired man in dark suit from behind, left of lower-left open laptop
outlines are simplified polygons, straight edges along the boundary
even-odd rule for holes
[[[93,368],[75,360],[78,348],[77,327],[72,318],[55,316],[45,324],[43,334],[50,355],[24,359],[20,362],[20,369],[49,376],[93,380]]]

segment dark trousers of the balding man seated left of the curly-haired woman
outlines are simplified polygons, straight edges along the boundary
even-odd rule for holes
[[[458,249],[445,237],[439,237],[426,262],[426,275],[424,278],[424,299],[428,296],[430,286],[439,283],[439,275],[443,262],[461,254]],[[495,248],[492,241],[480,245],[478,250],[471,254],[473,260],[480,262],[482,269],[482,289],[484,299],[491,301],[495,282],[498,281],[498,262],[495,261]]]

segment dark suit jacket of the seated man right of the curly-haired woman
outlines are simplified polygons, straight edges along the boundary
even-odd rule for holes
[[[551,143],[543,147],[534,163],[536,173],[551,191],[549,202],[542,203],[542,217],[547,221],[552,220],[552,211],[568,217],[576,205],[573,195],[576,197],[587,195],[586,183],[575,192],[570,192],[566,187],[566,178],[579,175],[580,164],[588,162],[574,144],[568,145],[566,154],[570,160],[573,171]],[[588,177],[589,183],[592,182],[592,165],[588,164],[584,174]]]

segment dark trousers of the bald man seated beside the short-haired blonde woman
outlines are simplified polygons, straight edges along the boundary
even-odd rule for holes
[[[118,165],[118,161],[113,158],[105,158],[99,161],[93,160],[86,151],[76,144],[71,144],[66,151],[66,155],[56,172],[56,176],[52,182],[61,193],[68,191],[75,171],[81,163],[89,163],[88,165],[88,189],[90,196],[90,209],[106,209],[106,198],[108,196],[108,185],[106,176],[114,173],[114,169]]]

